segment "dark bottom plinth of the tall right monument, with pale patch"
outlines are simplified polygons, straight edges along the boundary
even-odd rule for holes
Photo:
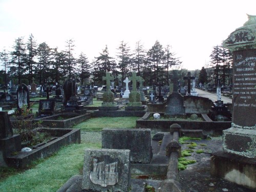
[[[238,141],[238,140],[237,140]],[[239,140],[240,141],[240,140]],[[237,142],[238,143],[238,142]],[[236,154],[217,152],[210,160],[210,174],[256,189],[256,159]]]

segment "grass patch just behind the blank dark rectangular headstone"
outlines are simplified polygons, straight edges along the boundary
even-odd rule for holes
[[[139,117],[97,117],[74,125],[73,129],[81,131],[101,131],[105,127],[131,129],[136,126]]]

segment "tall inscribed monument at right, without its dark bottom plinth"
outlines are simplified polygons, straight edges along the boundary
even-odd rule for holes
[[[231,128],[223,131],[223,149],[256,158],[256,16],[248,18],[224,41],[233,52],[233,114]]]

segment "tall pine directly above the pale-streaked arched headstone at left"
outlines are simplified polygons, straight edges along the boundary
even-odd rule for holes
[[[15,45],[13,46],[14,51],[11,52],[11,65],[13,65],[13,67],[15,67],[15,71],[17,71],[18,84],[20,84],[22,74],[26,73],[26,49],[23,39],[24,37],[18,37],[15,39]]]

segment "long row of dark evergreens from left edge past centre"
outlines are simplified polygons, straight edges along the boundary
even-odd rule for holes
[[[3,50],[0,59],[5,72],[8,71],[8,79],[17,79],[17,83],[28,79],[29,84],[32,78],[37,83],[46,79],[61,83],[73,73],[79,76],[81,84],[86,84],[91,75],[93,82],[89,83],[103,84],[102,76],[106,72],[111,72],[116,83],[122,84],[124,78],[133,71],[142,76],[146,84],[168,84],[170,68],[181,64],[171,50],[172,47],[167,45],[163,48],[158,40],[149,50],[145,50],[138,41],[133,51],[126,42],[121,41],[116,57],[110,56],[108,46],[105,46],[100,55],[91,62],[82,52],[75,58],[74,47],[73,39],[66,41],[63,51],[58,47],[50,48],[46,42],[38,45],[31,34],[26,42],[24,37],[15,39],[13,50]]]

